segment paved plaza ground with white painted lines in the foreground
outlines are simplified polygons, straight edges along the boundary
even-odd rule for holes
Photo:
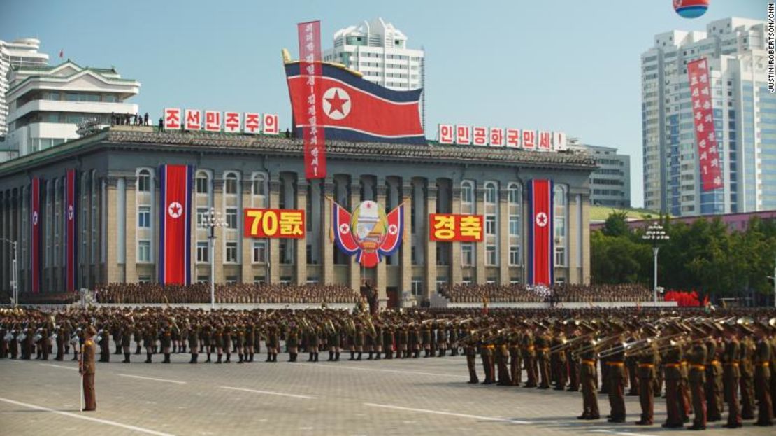
[[[158,363],[161,355],[154,364],[141,363],[145,354],[132,364],[111,358],[97,364],[91,413],[79,411],[75,362],[0,361],[0,434],[688,434],[632,424],[637,397],[626,397],[627,424],[608,424],[576,419],[579,392],[469,385],[462,357],[307,363],[300,354],[291,364],[280,354],[269,364],[262,354],[251,364],[196,365],[188,354],[173,354],[172,364]],[[608,413],[605,397],[599,405]],[[664,400],[655,418],[665,419]],[[705,434],[774,434],[752,423],[736,431],[712,423]]]

